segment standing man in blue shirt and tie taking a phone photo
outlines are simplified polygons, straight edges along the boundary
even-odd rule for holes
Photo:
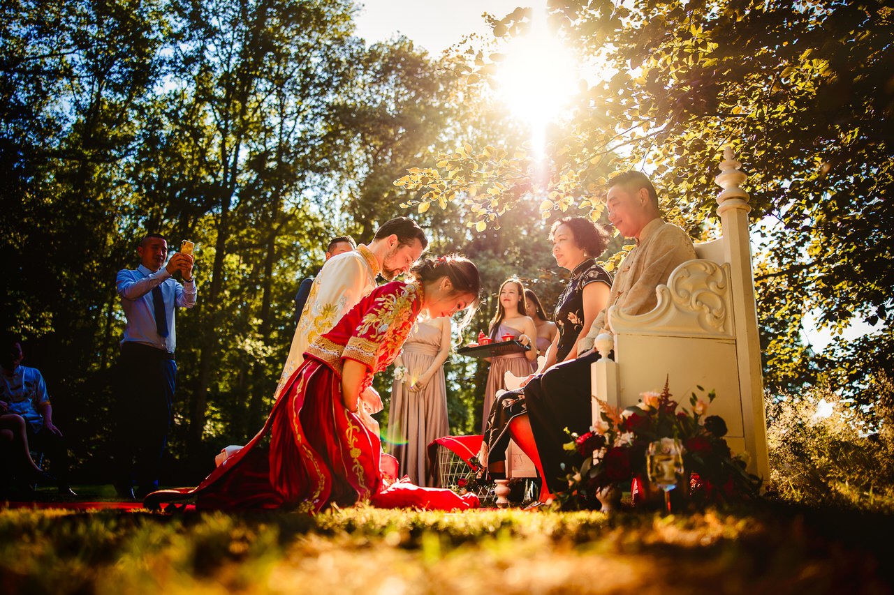
[[[121,342],[118,388],[118,476],[115,489],[133,498],[158,487],[158,471],[171,420],[177,364],[174,307],[196,304],[192,256],[167,258],[164,236],[150,233],[137,248],[139,267],[118,272],[115,289],[127,317]],[[173,280],[180,271],[183,284]]]

